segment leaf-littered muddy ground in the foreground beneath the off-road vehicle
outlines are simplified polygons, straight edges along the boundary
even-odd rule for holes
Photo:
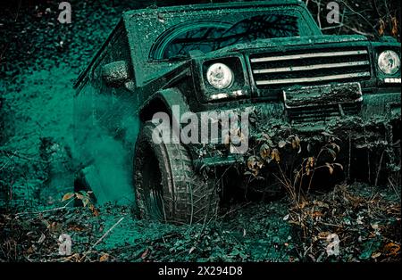
[[[288,198],[238,205],[193,226],[138,220],[130,209],[115,205],[4,213],[0,257],[76,262],[400,261],[399,194],[400,189],[392,187],[338,185],[297,205]],[[69,256],[59,254],[61,235],[71,236]]]

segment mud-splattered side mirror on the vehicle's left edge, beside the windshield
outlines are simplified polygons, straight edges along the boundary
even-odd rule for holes
[[[125,61],[105,64],[102,66],[102,78],[107,86],[121,86],[130,79],[129,64]]]

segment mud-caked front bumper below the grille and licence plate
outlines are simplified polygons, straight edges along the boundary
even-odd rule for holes
[[[223,141],[219,144],[192,144],[190,150],[195,168],[199,171],[216,171],[216,168],[235,165],[247,167],[247,159],[259,154],[261,136],[270,137],[272,148],[281,153],[282,164],[293,162],[295,156],[300,159],[314,156],[314,152],[316,154],[320,151],[322,145],[328,143],[331,137],[340,147],[337,161],[350,164],[350,158],[354,158],[352,153],[364,150],[381,154],[381,159],[387,161],[394,169],[400,165],[397,154],[400,152],[400,91],[365,94],[358,106],[353,106],[353,110],[342,110],[342,106],[338,105],[335,108],[339,108],[339,111],[331,111],[331,114],[326,113],[325,106],[301,110],[297,118],[292,119],[295,115],[290,113],[291,109],[287,108],[283,101],[244,105],[235,111],[239,115],[243,111],[249,111],[247,152],[230,153],[230,144]],[[297,136],[300,139],[300,148],[297,148],[297,151],[283,146],[289,136]],[[386,154],[385,157],[383,153]]]

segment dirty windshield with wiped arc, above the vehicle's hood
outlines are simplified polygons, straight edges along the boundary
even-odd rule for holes
[[[297,37],[298,17],[294,14],[262,14],[234,24],[227,22],[189,22],[157,44],[154,59],[180,59],[190,51],[212,52],[222,47],[251,43],[272,37]]]

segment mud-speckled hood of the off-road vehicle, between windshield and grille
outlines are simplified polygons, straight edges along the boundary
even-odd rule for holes
[[[336,44],[336,43],[356,43],[356,42],[368,42],[367,37],[361,35],[343,35],[343,36],[308,36],[308,37],[278,37],[270,39],[255,40],[247,44],[230,45],[211,52],[209,55],[222,55],[225,53],[241,52],[250,49],[261,48],[286,48],[291,45],[322,45],[322,44]]]

